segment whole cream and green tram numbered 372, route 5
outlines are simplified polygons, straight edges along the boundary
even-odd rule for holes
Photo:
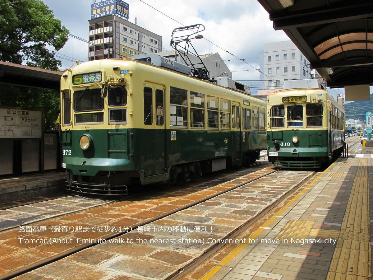
[[[129,185],[174,183],[255,162],[266,149],[264,101],[153,64],[94,60],[63,74],[68,189],[126,194]]]

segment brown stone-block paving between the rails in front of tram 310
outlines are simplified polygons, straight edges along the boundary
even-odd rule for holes
[[[127,233],[113,239],[117,240],[118,244],[103,243],[85,249],[27,273],[19,279],[166,279],[208,251],[213,246],[213,243],[207,241],[208,237],[224,238],[311,174],[313,172],[310,171],[277,171],[229,193],[150,223],[147,225],[150,231],[143,228],[138,232]],[[165,227],[179,230],[162,230]],[[181,228],[193,230],[184,231]],[[207,232],[197,231],[196,228],[206,228]],[[127,238],[134,240],[134,243],[126,241]],[[167,242],[173,239],[176,242]],[[205,242],[202,244],[189,242],[203,239]],[[36,248],[39,251],[41,249]]]

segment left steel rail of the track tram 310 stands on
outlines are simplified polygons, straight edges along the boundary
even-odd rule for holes
[[[261,164],[261,163],[258,163],[258,164]],[[255,165],[257,165],[257,164],[255,164]],[[250,165],[250,166],[253,166],[253,165]],[[258,177],[255,177],[255,178],[249,179],[247,181],[241,182],[239,184],[236,184],[235,186],[230,187],[229,189],[226,189],[224,191],[218,192],[218,193],[216,193],[214,195],[210,195],[210,196],[205,197],[203,199],[200,199],[200,200],[197,200],[195,202],[189,203],[189,204],[187,204],[185,206],[182,206],[181,208],[175,209],[173,211],[170,211],[170,212],[167,212],[165,214],[159,215],[159,216],[154,217],[152,219],[146,220],[146,221],[144,221],[142,223],[139,223],[139,224],[135,225],[134,227],[131,227],[131,231],[137,229],[138,227],[141,227],[141,226],[144,226],[146,224],[153,223],[153,222],[155,222],[157,220],[160,220],[162,218],[168,217],[168,216],[170,216],[172,214],[175,214],[175,213],[177,213],[179,211],[188,209],[188,208],[190,208],[192,206],[195,206],[197,204],[205,202],[206,200],[212,199],[212,198],[214,198],[216,196],[219,196],[219,195],[222,195],[224,193],[230,192],[231,190],[237,189],[238,187],[244,186],[245,184],[251,183],[251,182],[256,181],[256,180],[258,180],[260,178],[263,178],[263,177],[265,177],[267,175],[273,174],[276,171],[279,171],[280,169],[281,168],[274,169],[273,171],[270,171],[270,172],[268,172],[266,174],[259,175]],[[216,174],[214,174],[214,175],[216,175]],[[120,231],[120,232],[117,232],[117,233],[113,233],[113,234],[109,234],[109,235],[100,237],[100,239],[101,240],[110,240],[110,239],[113,239],[115,237],[122,236],[123,234],[129,233],[131,231]],[[80,252],[80,251],[82,251],[84,249],[93,247],[93,246],[95,246],[97,244],[100,244],[100,242],[94,242],[94,243],[84,244],[84,245],[75,247],[73,249],[70,249],[70,250],[68,250],[66,252],[62,252],[62,253],[59,253],[57,255],[54,255],[54,256],[52,256],[50,258],[42,259],[41,261],[38,261],[38,262],[36,262],[34,264],[26,265],[25,267],[19,268],[19,269],[13,271],[13,272],[10,272],[8,274],[4,274],[4,275],[0,276],[0,280],[12,279],[14,277],[17,277],[17,276],[20,276],[22,274],[25,274],[25,273],[27,273],[29,271],[32,271],[32,270],[34,270],[36,268],[43,267],[44,265],[47,265],[47,264],[50,264],[52,262],[58,261],[60,259],[66,258],[66,257],[68,257],[68,256],[70,256],[70,255],[72,255],[74,253]]]

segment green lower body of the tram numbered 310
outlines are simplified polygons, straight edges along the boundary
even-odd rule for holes
[[[297,136],[299,141],[292,142]],[[343,152],[340,130],[268,131],[268,160],[282,168],[320,168]]]

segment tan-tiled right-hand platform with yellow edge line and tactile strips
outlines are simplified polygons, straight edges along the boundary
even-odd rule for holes
[[[316,175],[181,279],[372,279],[373,155]]]

